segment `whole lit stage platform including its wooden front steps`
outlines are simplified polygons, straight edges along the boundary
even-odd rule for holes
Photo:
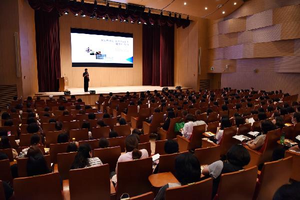
[[[109,92],[114,94],[124,94],[126,91],[129,92],[141,92],[149,90],[153,92],[154,90],[161,91],[163,87],[151,86],[151,85],[128,85],[128,86],[103,86],[103,87],[88,87],[88,90],[95,90],[95,94],[90,94],[89,92],[84,92],[83,87],[68,88],[71,92],[70,95],[75,95],[76,98],[81,98],[85,104],[94,105],[95,101],[98,99],[99,94],[107,95]],[[174,86],[169,86],[169,89],[176,89]],[[191,87],[181,87],[181,89],[191,89]],[[47,99],[49,95],[53,95],[56,99],[59,95],[64,95],[63,92],[38,92],[35,96],[40,96],[41,99]],[[65,95],[69,96],[69,95]]]

